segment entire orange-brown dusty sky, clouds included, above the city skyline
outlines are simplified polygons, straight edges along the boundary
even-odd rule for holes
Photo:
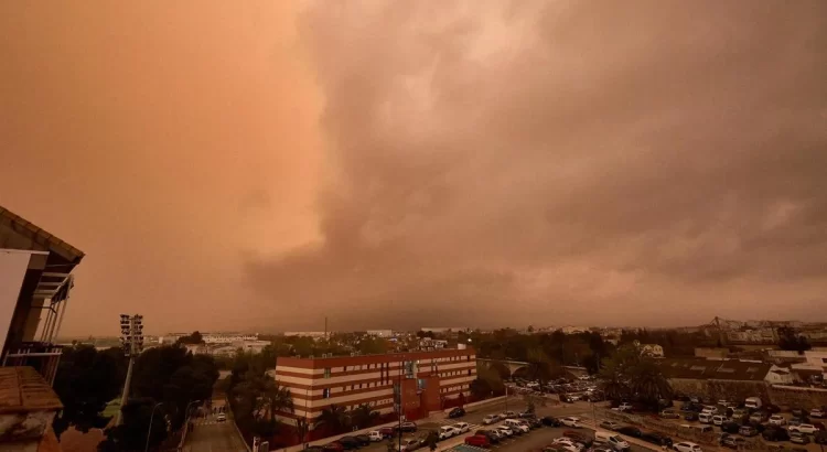
[[[0,57],[65,334],[827,320],[820,0],[3,2]]]

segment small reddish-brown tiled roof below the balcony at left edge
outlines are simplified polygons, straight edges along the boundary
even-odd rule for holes
[[[0,367],[0,413],[63,408],[46,380],[31,367]]]

